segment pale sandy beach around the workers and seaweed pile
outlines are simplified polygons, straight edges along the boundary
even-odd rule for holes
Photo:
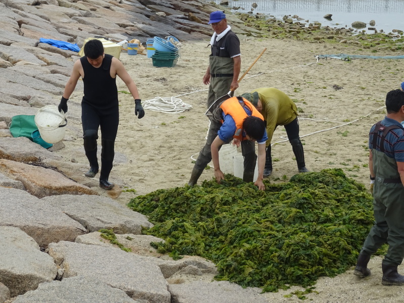
[[[230,24],[231,25],[231,24]],[[389,90],[399,88],[402,81],[399,60],[360,59],[350,62],[316,59],[316,55],[374,55],[369,49],[342,43],[310,43],[294,39],[253,38],[239,35],[241,42],[241,73],[258,55],[267,51],[240,82],[235,94],[240,95],[259,87],[276,87],[288,94],[299,110],[300,137],[304,142],[306,166],[311,171],[342,168],[348,177],[369,188],[368,132],[385,114],[384,100]],[[181,58],[173,68],[153,67],[146,56],[121,53],[121,61],[137,84],[142,101],[160,97],[176,97],[192,108],[180,114],[146,110],[143,119],[134,115],[130,94],[119,93],[120,124],[116,139],[116,158],[110,181],[136,193],[123,192],[117,199],[126,205],[135,195],[157,189],[183,186],[193,167],[191,156],[197,157],[205,144],[209,120],[204,115],[208,86],[202,78],[208,66],[209,41],[183,42]],[[379,51],[378,56],[401,55]],[[118,80],[118,89],[127,91]],[[179,96],[180,95],[180,96]],[[70,97],[69,114],[79,111],[82,92]],[[73,103],[75,105],[73,105]],[[70,105],[69,105],[70,106]],[[78,113],[75,114],[75,116]],[[70,119],[70,127],[81,128],[78,119]],[[71,136],[69,138],[69,135]],[[274,171],[271,182],[287,181],[297,173],[296,162],[286,132],[278,127],[272,143]],[[73,136],[73,137],[72,137]],[[66,161],[75,159],[88,164],[82,139],[67,133],[68,140],[56,153]],[[100,146],[99,146],[100,147]],[[240,151],[241,152],[241,151]],[[211,179],[213,169],[206,170],[198,184]],[[89,180],[91,188],[102,195],[97,179]],[[398,287],[381,285],[381,258],[371,260],[372,276],[359,280],[352,270],[334,278],[322,278],[316,291],[307,297],[314,302],[402,302]],[[404,269],[401,266],[401,273]],[[293,288],[294,289],[294,288]],[[292,290],[293,290],[292,289]],[[271,302],[299,301],[295,296],[268,293]]]

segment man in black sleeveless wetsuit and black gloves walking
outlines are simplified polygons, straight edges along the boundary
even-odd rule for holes
[[[114,184],[108,181],[108,177],[114,160],[114,144],[119,122],[116,76],[125,82],[135,99],[135,115],[138,119],[144,116],[144,110],[135,82],[118,59],[104,54],[104,46],[101,41],[89,40],[84,45],[84,55],[74,63],[72,74],[59,104],[59,111],[67,112],[67,100],[81,77],[84,83],[81,122],[85,155],[90,163],[90,170],[85,173],[85,176],[93,178],[98,173],[97,139],[100,127],[102,149],[99,186],[111,189]]]

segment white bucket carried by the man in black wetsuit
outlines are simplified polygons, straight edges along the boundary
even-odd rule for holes
[[[55,105],[47,105],[35,114],[35,124],[43,141],[57,143],[65,137],[67,120],[63,111]]]

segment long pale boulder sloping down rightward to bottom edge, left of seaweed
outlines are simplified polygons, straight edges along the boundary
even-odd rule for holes
[[[63,278],[84,276],[125,291],[147,303],[170,303],[160,268],[119,248],[61,241],[48,246],[49,255],[64,269]]]

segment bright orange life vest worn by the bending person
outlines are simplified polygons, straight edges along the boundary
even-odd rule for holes
[[[252,105],[247,99],[242,97],[232,97],[229,98],[220,105],[223,113],[225,115],[230,115],[234,122],[236,123],[236,132],[233,135],[233,138],[242,140],[247,140],[247,138],[243,138],[243,121],[246,117],[248,117],[247,113],[244,111],[243,106],[240,104],[239,100],[242,100],[245,106],[250,110],[251,116],[258,117],[264,121],[264,117],[260,114],[259,111],[256,110],[254,105]],[[223,120],[222,120],[223,123]]]

